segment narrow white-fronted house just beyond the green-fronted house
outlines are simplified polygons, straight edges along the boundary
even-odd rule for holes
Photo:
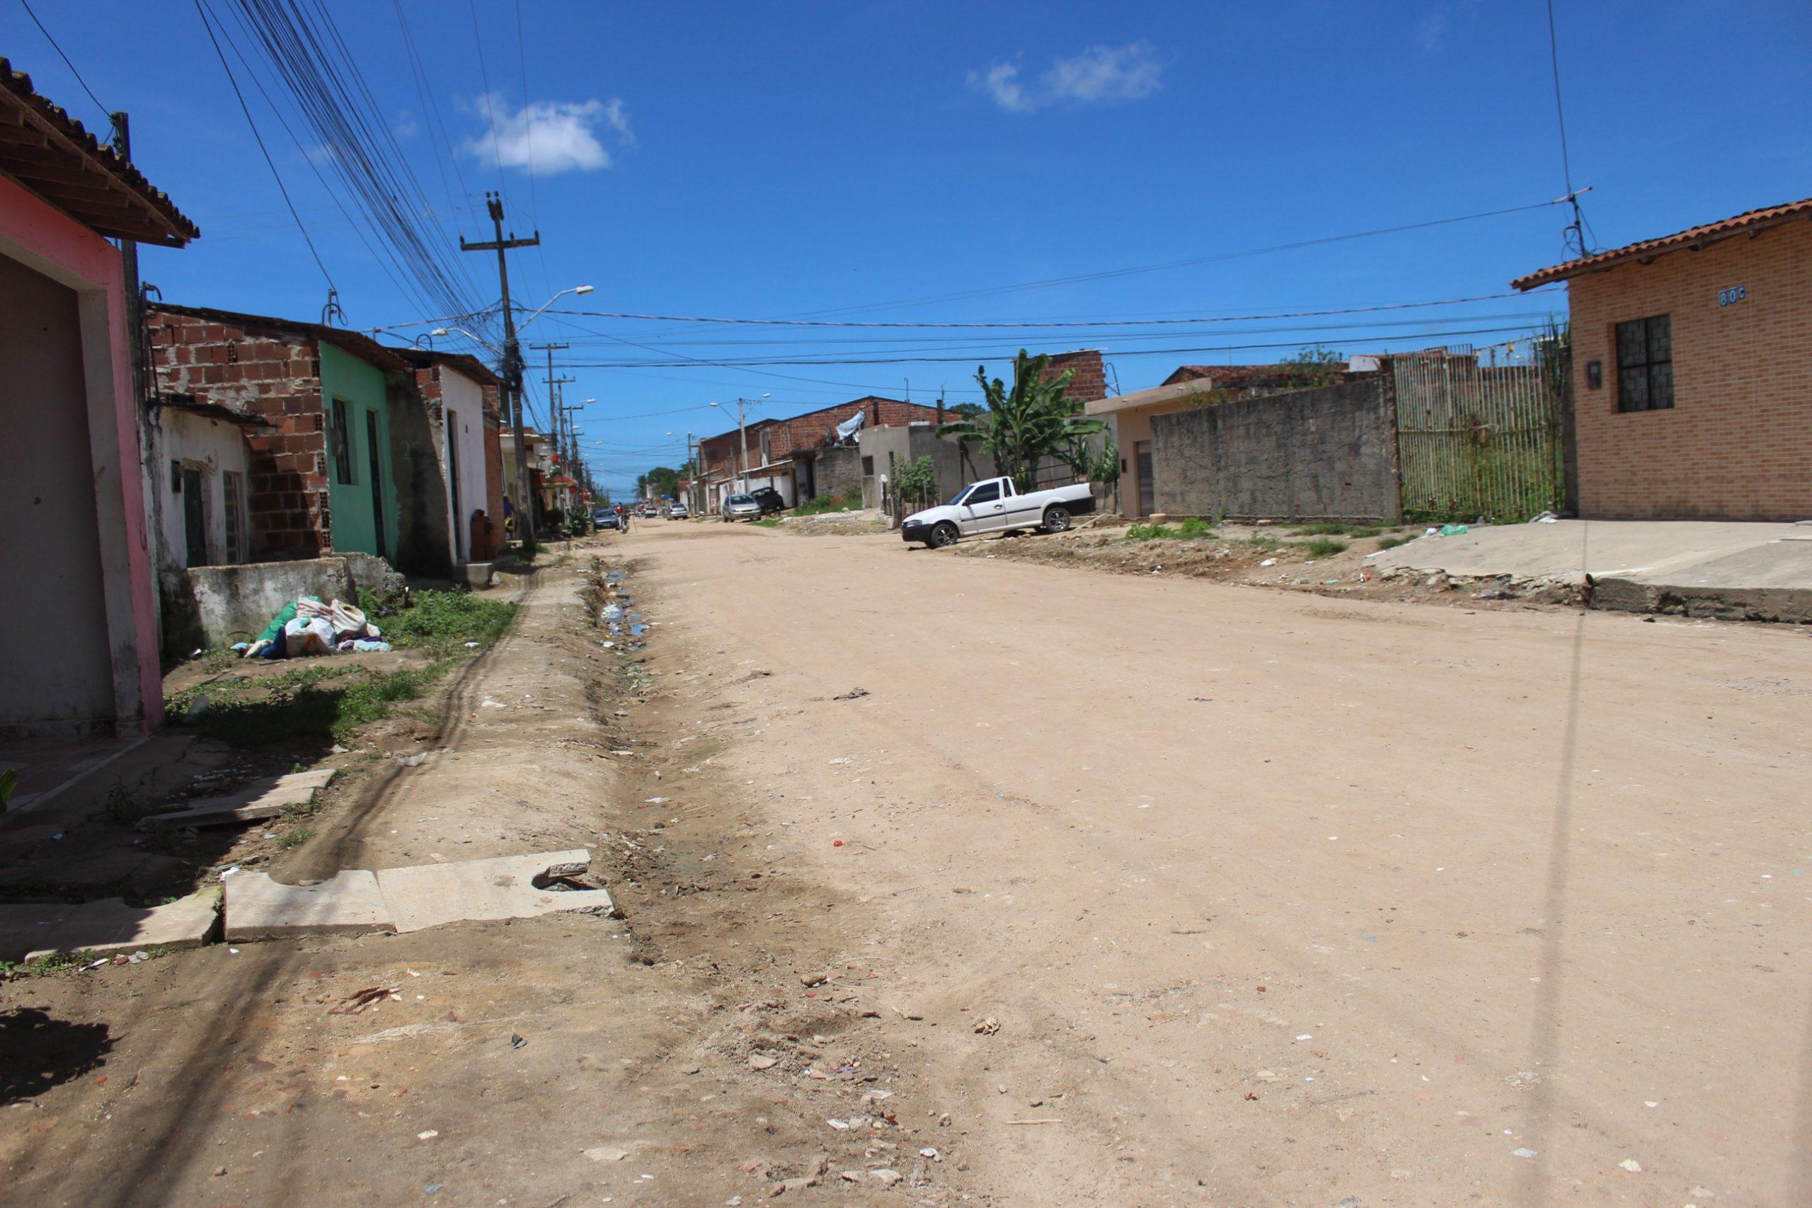
[[[466,353],[397,350],[415,369],[415,391],[440,449],[453,565],[489,561],[504,540],[502,379]]]

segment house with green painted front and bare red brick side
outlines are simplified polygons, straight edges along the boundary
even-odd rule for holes
[[[364,552],[451,572],[444,442],[400,353],[357,331],[167,302],[145,328],[156,391],[270,424],[246,435],[254,561]]]

